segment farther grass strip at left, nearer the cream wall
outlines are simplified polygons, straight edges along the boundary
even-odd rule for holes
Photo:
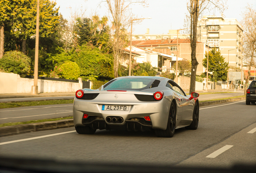
[[[0,103],[0,109],[3,109],[3,108],[14,108],[14,107],[39,106],[39,105],[69,104],[69,103],[73,103],[73,102],[74,102],[74,99],[43,100],[43,101],[23,101],[23,102],[12,102],[12,103]]]

